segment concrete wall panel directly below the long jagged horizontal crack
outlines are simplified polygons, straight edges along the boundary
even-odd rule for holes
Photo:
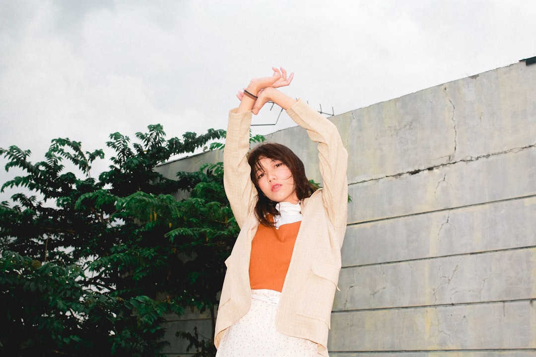
[[[349,224],[531,196],[536,147],[351,184],[348,193]]]

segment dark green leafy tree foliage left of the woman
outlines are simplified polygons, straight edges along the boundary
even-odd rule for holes
[[[114,155],[96,179],[104,151],[77,141],[53,140],[35,164],[29,150],[0,149],[6,170],[24,172],[2,186],[23,191],[0,204],[0,354],[155,356],[166,314],[213,314],[238,233],[222,165],[176,179],[153,169],[224,135],[166,139],[161,125],[133,143],[111,134]]]

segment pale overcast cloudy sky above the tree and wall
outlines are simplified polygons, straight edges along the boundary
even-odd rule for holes
[[[272,66],[295,72],[287,94],[340,114],[536,56],[535,19],[527,0],[0,0],[0,147],[36,162],[53,138],[93,151],[150,124],[225,128]]]

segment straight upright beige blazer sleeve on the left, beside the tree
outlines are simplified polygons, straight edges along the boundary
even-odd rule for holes
[[[249,127],[251,111],[229,111],[227,136],[224,148],[224,187],[227,199],[238,223],[242,226],[257,200],[257,189],[250,179],[248,164]]]

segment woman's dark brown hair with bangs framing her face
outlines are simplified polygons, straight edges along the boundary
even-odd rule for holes
[[[299,200],[308,198],[313,192],[316,191],[316,187],[311,185],[305,174],[305,168],[303,162],[296,154],[289,148],[278,143],[262,143],[256,146],[248,155],[248,163],[251,167],[251,181],[257,188],[257,204],[255,205],[255,216],[259,220],[260,224],[265,226],[274,226],[274,223],[270,221],[269,214],[276,216],[279,212],[276,210],[276,204],[267,198],[260,190],[257,183],[256,171],[261,168],[260,159],[270,158],[272,160],[278,160],[287,165],[291,170],[292,177],[294,179],[294,190]]]

